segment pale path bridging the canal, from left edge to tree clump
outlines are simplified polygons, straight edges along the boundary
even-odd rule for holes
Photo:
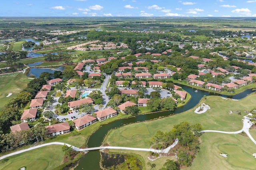
[[[89,151],[89,150],[100,150],[100,149],[125,149],[125,150],[151,151],[151,152],[157,152],[157,153],[168,153],[170,149],[172,149],[173,147],[175,147],[177,145],[177,143],[178,143],[178,139],[176,139],[170,147],[168,147],[164,150],[145,149],[145,148],[129,148],[129,147],[110,147],[110,146],[108,146],[108,147],[92,147],[92,148],[86,148],[86,149],[80,149],[80,148],[72,146],[72,148],[76,151]],[[42,145],[37,145],[37,146],[34,146],[34,147],[30,147],[28,149],[23,149],[23,150],[19,150],[19,151],[16,151],[16,152],[12,152],[10,154],[6,154],[4,156],[1,156],[0,160],[2,160],[4,158],[7,158],[9,156],[13,156],[13,155],[20,154],[20,153],[23,153],[23,152],[26,152],[26,151],[29,151],[29,150],[33,150],[33,149],[37,149],[37,148],[45,147],[45,146],[49,146],[49,145],[67,145],[68,147],[71,146],[69,144],[62,143],[62,142],[45,143],[45,144],[42,144]]]

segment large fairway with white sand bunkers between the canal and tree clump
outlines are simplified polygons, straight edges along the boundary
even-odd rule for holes
[[[188,121],[191,124],[200,123],[204,130],[238,131],[242,129],[242,116],[246,115],[244,111],[249,111],[254,107],[253,101],[255,98],[254,94],[240,101],[209,96],[207,100],[201,101],[193,109],[184,113],[114,129],[107,135],[104,143],[108,143],[110,146],[149,148],[150,138],[156,131],[170,131],[173,125],[182,121]],[[201,105],[202,102],[208,104],[211,109],[203,114],[194,113],[195,108]],[[229,110],[239,110],[242,115],[238,115],[236,112],[229,114]]]

